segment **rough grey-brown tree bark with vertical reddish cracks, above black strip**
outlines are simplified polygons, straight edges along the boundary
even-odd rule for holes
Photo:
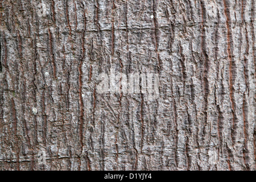
[[[255,0],[0,6],[1,170],[255,170]],[[110,67],[159,98],[98,94]]]

